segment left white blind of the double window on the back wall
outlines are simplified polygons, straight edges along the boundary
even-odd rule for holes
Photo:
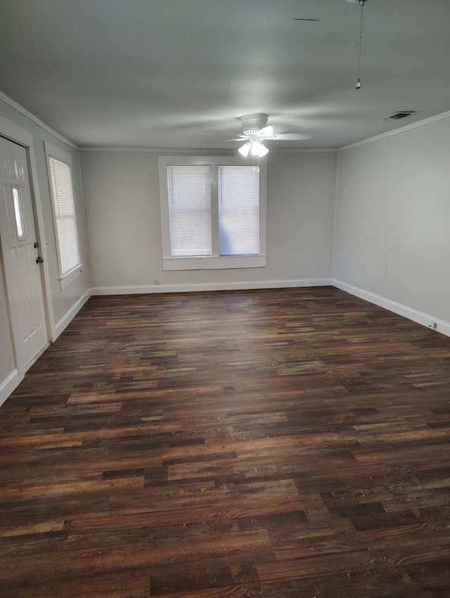
[[[211,255],[210,167],[167,166],[170,254]]]

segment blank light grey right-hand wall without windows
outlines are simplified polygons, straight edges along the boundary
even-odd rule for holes
[[[450,333],[450,117],[340,152],[340,288]],[[391,248],[392,247],[392,248]]]

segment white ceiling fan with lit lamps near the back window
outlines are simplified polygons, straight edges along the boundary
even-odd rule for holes
[[[244,114],[240,117],[243,132],[236,139],[229,139],[229,141],[245,141],[245,144],[238,149],[238,152],[243,155],[244,158],[247,158],[249,153],[259,158],[266,155],[266,153],[269,152],[269,149],[264,145],[266,139],[304,139],[304,136],[299,134],[275,134],[274,127],[271,125],[267,126],[268,120],[269,115],[259,113]]]

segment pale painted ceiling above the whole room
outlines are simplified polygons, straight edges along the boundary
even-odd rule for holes
[[[295,18],[315,18],[304,22]],[[0,91],[78,146],[338,148],[450,110],[450,0],[0,0]],[[383,122],[397,110],[416,113]]]

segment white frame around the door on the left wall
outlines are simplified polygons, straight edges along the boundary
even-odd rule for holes
[[[44,258],[44,263],[41,265],[41,287],[42,287],[42,298],[44,300],[44,314],[45,314],[45,322],[44,325],[46,326],[47,337],[50,343],[55,341],[57,334],[56,334],[56,326],[55,326],[55,319],[53,314],[53,307],[51,304],[51,284],[50,284],[50,273],[49,273],[49,262],[47,259],[47,247],[46,247],[46,239],[45,239],[45,232],[44,232],[44,214],[42,212],[42,205],[41,205],[41,196],[39,194],[39,185],[38,185],[38,177],[37,177],[37,162],[36,162],[36,155],[34,153],[34,138],[30,132],[26,129],[23,129],[19,125],[15,125],[14,122],[7,120],[6,118],[0,116],[0,135],[8,139],[9,141],[13,141],[13,143],[19,144],[25,148],[27,153],[27,166],[28,166],[28,174],[30,179],[30,192],[31,192],[31,201],[32,201],[32,208],[33,208],[33,215],[34,215],[34,227],[36,229],[36,238],[39,243],[39,249],[41,256]],[[4,272],[4,283],[6,288],[8,287],[8,280],[6,279],[6,272]],[[8,303],[8,294],[6,293],[6,301]],[[11,312],[9,312],[8,307],[8,317],[9,317],[9,324],[11,329],[11,343],[13,345],[13,352],[14,352],[14,361],[15,367],[18,371],[20,381],[23,380],[25,376],[25,364],[21,364],[18,362],[17,358],[17,350],[15,347],[15,337],[13,335],[13,322],[11,320]],[[37,355],[39,357],[39,355]]]

